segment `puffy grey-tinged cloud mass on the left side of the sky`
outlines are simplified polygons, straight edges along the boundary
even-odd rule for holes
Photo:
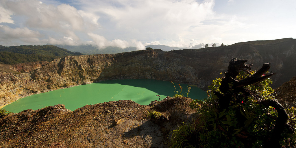
[[[44,34],[40,40],[49,41],[48,44],[79,44],[83,41],[77,34],[86,35],[88,30],[99,26],[99,17],[94,14],[77,10],[68,4],[54,6],[36,0],[0,1],[0,14],[0,22],[14,23],[15,20],[15,25],[38,30],[37,32]],[[11,17],[12,14],[21,19]],[[72,41],[65,40],[64,36],[72,38]],[[16,35],[15,38],[17,39]]]

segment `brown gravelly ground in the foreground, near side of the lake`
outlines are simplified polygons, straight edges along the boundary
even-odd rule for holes
[[[149,105],[120,100],[74,111],[61,104],[24,110],[0,119],[0,147],[168,147],[170,132],[194,119],[190,102],[166,97]],[[165,118],[149,120],[149,111]]]

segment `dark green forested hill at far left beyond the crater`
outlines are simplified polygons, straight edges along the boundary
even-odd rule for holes
[[[0,63],[18,64],[37,61],[52,61],[53,59],[83,55],[80,52],[70,52],[67,49],[53,45],[21,45],[21,46],[1,46]]]

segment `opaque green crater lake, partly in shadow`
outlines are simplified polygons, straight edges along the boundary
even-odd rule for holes
[[[178,83],[175,83],[179,91]],[[183,95],[187,94],[187,84],[183,86]],[[69,110],[76,110],[86,104],[97,104],[115,100],[132,100],[142,105],[148,105],[151,101],[173,96],[175,88],[167,81],[136,79],[136,80],[110,80],[87,85],[58,89],[41,94],[35,94],[18,99],[5,106],[5,110],[17,113],[22,110],[37,110],[46,106],[64,104]],[[204,99],[205,91],[192,87],[189,96],[192,99]]]

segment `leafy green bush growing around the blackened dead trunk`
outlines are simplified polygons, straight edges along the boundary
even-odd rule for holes
[[[255,71],[251,72],[251,74],[253,73]],[[241,71],[236,79],[239,80],[248,76],[249,74]],[[222,94],[219,90],[222,78],[213,80],[207,91],[208,97],[204,101],[195,100],[190,104],[192,108],[197,109],[200,117],[196,122],[181,124],[179,128],[173,131],[170,147],[266,147],[266,141],[271,139],[278,116],[273,107],[265,108],[260,104],[261,100],[274,98],[273,89],[269,86],[272,83],[271,79],[268,78],[245,86],[250,96],[233,95],[229,107],[218,110],[218,97],[215,96],[214,91]],[[232,84],[229,83],[230,92],[233,90],[231,86]],[[240,97],[241,102],[236,101],[237,97]],[[292,107],[287,112],[290,115],[288,123],[295,127],[295,108]],[[186,132],[180,129],[186,129]],[[293,133],[285,128],[280,139],[282,147],[295,147],[296,134],[294,129]],[[187,130],[190,130],[190,132]],[[196,144],[194,141],[199,142]]]

